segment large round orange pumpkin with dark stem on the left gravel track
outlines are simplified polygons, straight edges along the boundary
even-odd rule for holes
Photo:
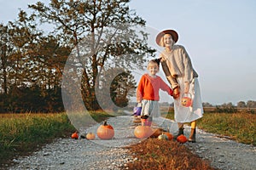
[[[113,139],[113,127],[111,125],[108,125],[107,121],[104,121],[104,123],[100,127],[98,127],[97,135],[100,139]]]

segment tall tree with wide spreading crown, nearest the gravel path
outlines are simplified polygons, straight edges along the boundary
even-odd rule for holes
[[[76,91],[83,91],[87,109],[100,109],[96,90],[104,71],[117,67],[129,71],[134,65],[142,68],[145,54],[154,53],[154,49],[148,48],[147,34],[136,32],[135,26],[145,26],[145,20],[129,8],[129,2],[51,0],[49,5],[40,2],[29,5],[42,22],[54,24],[55,33],[73,47],[67,72],[75,73],[67,77],[73,77]],[[70,83],[63,84],[65,94],[70,97],[75,93],[68,86]]]

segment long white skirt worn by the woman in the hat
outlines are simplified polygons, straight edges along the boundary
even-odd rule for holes
[[[189,84],[189,94],[184,94],[183,77],[178,77],[180,97],[174,99],[174,118],[176,122],[193,122],[203,116],[201,92],[198,79],[195,77]],[[187,96],[188,95],[188,96]],[[191,105],[184,105],[184,96],[191,99]]]

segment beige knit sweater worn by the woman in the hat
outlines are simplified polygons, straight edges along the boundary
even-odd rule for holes
[[[183,82],[192,82],[198,74],[193,69],[191,59],[186,49],[181,45],[174,45],[171,52],[164,50],[160,54],[161,65],[166,74],[168,82],[172,85],[172,89],[177,88],[177,77],[183,77]]]

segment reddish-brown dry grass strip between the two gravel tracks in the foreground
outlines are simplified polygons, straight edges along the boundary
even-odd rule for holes
[[[176,141],[145,139],[127,147],[137,161],[127,164],[128,169],[211,170],[209,162],[193,154],[184,144]],[[125,167],[126,168],[126,167]]]

